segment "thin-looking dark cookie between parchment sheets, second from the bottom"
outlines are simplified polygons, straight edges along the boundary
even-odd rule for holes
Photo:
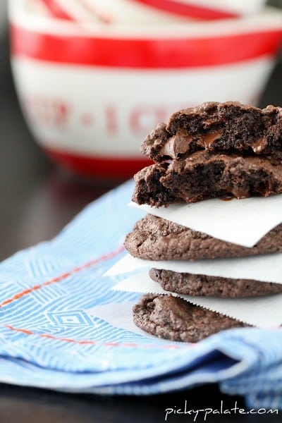
[[[149,276],[164,290],[185,295],[245,298],[282,293],[282,283],[194,275],[161,269],[151,269]]]

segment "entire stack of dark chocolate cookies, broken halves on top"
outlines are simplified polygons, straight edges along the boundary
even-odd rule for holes
[[[147,136],[142,152],[154,164],[135,175],[133,201],[154,207],[269,196],[282,192],[282,109],[237,102],[204,103],[173,114]],[[258,211],[259,212],[259,211]],[[207,214],[209,210],[207,209]],[[243,247],[147,214],[125,238],[130,255],[149,260],[247,257],[282,252],[282,225]],[[144,295],[133,309],[141,329],[172,341],[197,342],[248,326],[171,293],[245,298],[282,293],[281,283],[151,269],[168,295]]]

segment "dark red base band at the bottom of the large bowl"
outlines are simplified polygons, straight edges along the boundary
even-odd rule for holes
[[[49,147],[43,147],[43,150],[61,168],[78,175],[103,178],[103,180],[132,178],[141,168],[152,164],[152,161],[142,157],[99,157],[63,152]]]

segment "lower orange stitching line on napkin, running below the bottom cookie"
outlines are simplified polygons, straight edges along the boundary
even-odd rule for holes
[[[29,329],[21,329],[21,328],[15,328],[9,324],[1,324],[1,326],[4,326],[6,329],[10,329],[14,332],[21,332],[25,333],[25,335],[32,335],[32,336],[38,336],[39,338],[49,338],[54,339],[54,341],[61,341],[61,342],[68,342],[68,343],[75,343],[80,345],[101,345],[104,347],[121,347],[121,348],[161,348],[166,350],[178,350],[179,348],[194,348],[197,343],[193,344],[182,344],[182,345],[171,345],[171,344],[138,344],[138,343],[118,343],[118,342],[100,342],[100,341],[91,341],[91,340],[75,340],[72,338],[59,338],[54,335],[50,335],[49,333],[35,333],[30,331]]]

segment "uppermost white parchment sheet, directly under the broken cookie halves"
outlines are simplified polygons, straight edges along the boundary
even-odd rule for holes
[[[231,201],[214,198],[159,209],[135,202],[130,206],[244,247],[253,247],[282,222],[282,195]]]

